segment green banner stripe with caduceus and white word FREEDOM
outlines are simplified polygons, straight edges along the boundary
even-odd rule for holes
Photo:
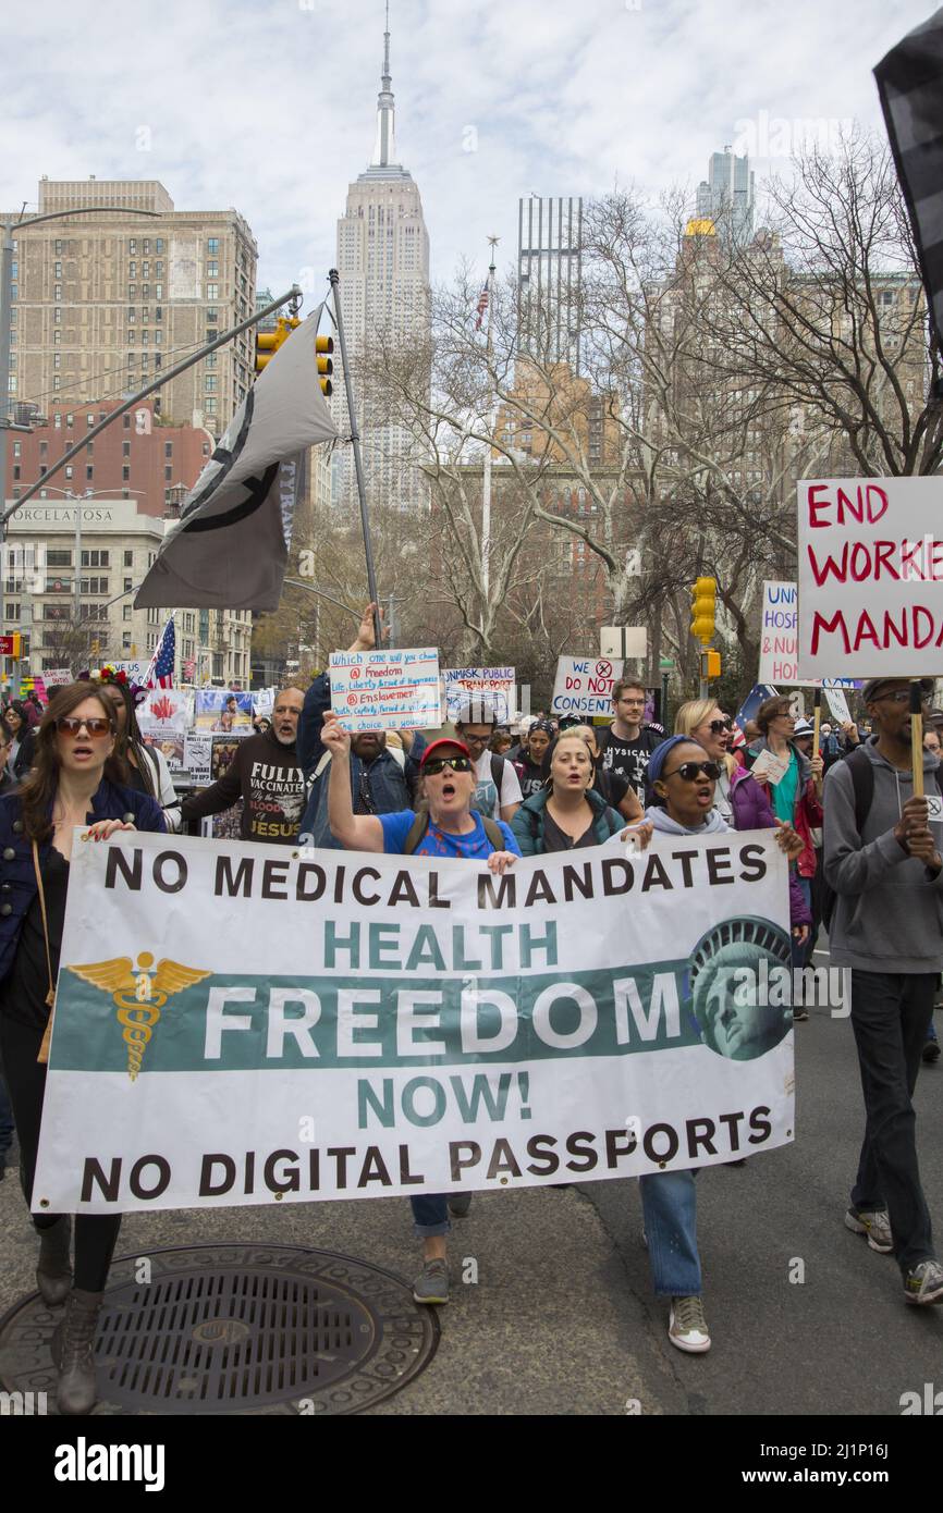
[[[675,961],[521,977],[213,974],[157,1014],[121,1009],[64,968],[50,1068],[366,1071],[630,1056],[699,1044],[686,970]]]

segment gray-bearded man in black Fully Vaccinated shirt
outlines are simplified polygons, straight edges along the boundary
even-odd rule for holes
[[[201,820],[207,814],[232,809],[242,799],[239,834],[244,841],[294,846],[306,794],[295,747],[303,702],[300,688],[282,688],[275,697],[271,729],[239,741],[239,750],[223,778],[212,788],[185,799],[180,817]]]

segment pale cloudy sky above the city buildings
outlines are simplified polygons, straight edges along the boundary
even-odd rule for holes
[[[872,67],[931,0],[391,0],[398,157],[433,278],[518,198],[634,182],[693,189],[725,142],[755,168],[811,129],[881,126]],[[159,179],[177,209],[235,206],[259,280],[321,289],[368,163],[383,0],[44,0],[5,6],[0,204],[50,179]],[[772,162],[770,162],[772,160]],[[313,280],[313,283],[312,283]]]

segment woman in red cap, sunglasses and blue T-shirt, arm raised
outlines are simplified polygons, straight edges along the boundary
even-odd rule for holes
[[[518,841],[504,820],[472,811],[477,773],[468,746],[454,737],[427,746],[419,776],[424,809],[398,814],[354,814],[350,782],[350,735],[328,711],[321,740],[331,753],[327,816],[331,834],[345,850],[386,852],[387,855],[453,856],[487,859],[490,871],[501,875],[521,855]],[[460,1194],[422,1194],[410,1198],[413,1227],[422,1241],[422,1272],[413,1285],[416,1303],[448,1303],[448,1263],[445,1236],[451,1224],[448,1210],[468,1213],[471,1197]]]

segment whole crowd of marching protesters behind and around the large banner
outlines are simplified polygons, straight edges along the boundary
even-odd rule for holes
[[[374,646],[372,605],[351,651]],[[932,684],[923,694],[929,699]],[[277,694],[271,725],[248,737],[230,772],[179,805],[159,753],[135,719],[135,691],[118,681],[74,682],[39,701],[11,701],[0,719],[0,1177],[14,1123],[21,1182],[32,1197],[45,1067],[42,1045],[58,971],[73,826],[92,838],[176,829],[244,800],[245,840],[327,849],[486,861],[496,873],[521,856],[605,844],[658,844],[658,835],[770,829],[789,859],[790,937],[802,968],[828,930],[833,965],[851,973],[851,1024],[864,1095],[864,1141],[845,1226],[895,1256],[910,1303],[943,1303],[920,1186],[913,1091],[920,1061],[940,1055],[932,1029],[943,964],[943,859],[925,797],[913,788],[907,679],[870,679],[866,725],[814,726],[773,696],[745,729],[714,699],[683,704],[674,732],[645,717],[646,690],[613,687],[613,719],[583,725],[539,714],[503,728],[475,701],[454,729],[360,732],[331,711],[327,675],[306,693]],[[925,788],[938,788],[940,726],[925,708]],[[515,741],[516,737],[516,741]],[[265,778],[265,802],[253,787]],[[940,790],[943,791],[943,790]],[[274,794],[274,797],[272,797]],[[277,811],[277,812],[275,812]],[[769,1015],[734,1002],[725,974],[704,968],[692,993],[705,1005],[711,1044],[737,1059],[775,1044],[802,1003]],[[727,974],[730,976],[730,974]],[[773,1023],[775,1021],[775,1023]],[[749,1047],[749,1052],[748,1049]],[[8,1097],[9,1092],[9,1097]],[[11,1112],[12,1103],[12,1112]],[[733,1160],[730,1165],[742,1165]],[[696,1238],[696,1170],[640,1179],[643,1238],[655,1292],[668,1300],[672,1345],[710,1348]],[[413,1297],[450,1295],[447,1235],[468,1194],[412,1200],[422,1269]],[[59,1409],[95,1401],[94,1331],[118,1219],[35,1218],[38,1286],[65,1304],[56,1334]]]

